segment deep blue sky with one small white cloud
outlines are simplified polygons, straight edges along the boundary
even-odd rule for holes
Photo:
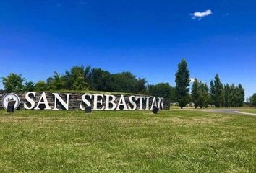
[[[46,80],[75,65],[175,85],[177,64],[208,84],[256,92],[256,1],[0,0],[0,76]],[[3,86],[0,84],[0,89]]]

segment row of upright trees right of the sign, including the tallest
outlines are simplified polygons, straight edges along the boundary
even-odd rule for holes
[[[244,88],[241,84],[222,84],[218,74],[214,80],[208,84],[195,79],[192,82],[191,92],[189,92],[189,70],[187,62],[183,59],[178,65],[176,73],[176,98],[181,108],[185,107],[189,102],[194,107],[242,107],[244,105]]]

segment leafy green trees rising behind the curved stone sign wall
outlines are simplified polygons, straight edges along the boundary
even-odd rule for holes
[[[46,81],[26,81],[21,74],[9,74],[2,82],[7,92],[29,91],[102,91],[150,94],[156,97],[174,98],[174,87],[168,83],[147,84],[145,78],[137,78],[129,71],[111,74],[101,68],[74,66],[64,74],[54,72]],[[174,100],[172,100],[174,101]]]

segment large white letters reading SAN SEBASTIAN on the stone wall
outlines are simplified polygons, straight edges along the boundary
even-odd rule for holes
[[[69,102],[72,94],[61,94],[66,99],[60,97],[58,93],[52,93],[54,103],[49,105],[46,93],[40,94],[39,99],[35,99],[36,92],[27,92],[25,94],[24,108],[25,110],[69,110]],[[151,98],[151,99],[150,99]],[[37,101],[35,101],[37,100]],[[111,94],[82,94],[80,98],[80,110],[85,110],[86,106],[92,107],[92,110],[152,110],[154,106],[164,109],[163,98],[134,96],[124,97],[120,95],[118,98]],[[42,108],[43,107],[43,108]]]

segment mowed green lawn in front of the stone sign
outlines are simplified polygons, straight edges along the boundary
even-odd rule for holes
[[[0,172],[256,172],[256,117],[0,110]]]

